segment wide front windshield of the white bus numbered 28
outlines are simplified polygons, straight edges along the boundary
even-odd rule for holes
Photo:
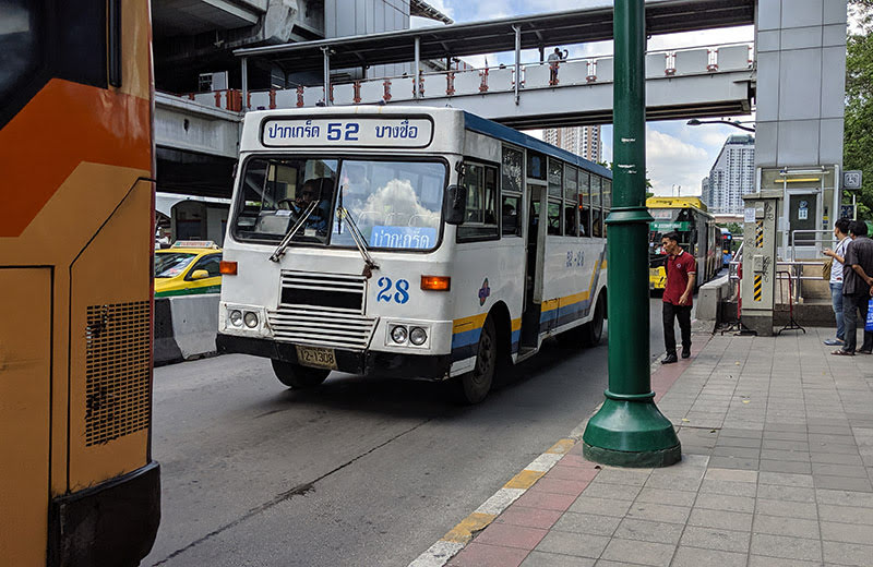
[[[247,161],[235,236],[355,248],[430,250],[440,233],[446,169],[442,161],[266,158]],[[337,213],[339,210],[339,213]]]

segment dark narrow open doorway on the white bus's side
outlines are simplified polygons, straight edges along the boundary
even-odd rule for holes
[[[536,349],[542,307],[542,270],[546,253],[546,185],[527,184],[527,258],[525,269],[525,304],[522,314],[522,348]]]

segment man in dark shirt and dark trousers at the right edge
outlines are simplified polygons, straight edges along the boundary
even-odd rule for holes
[[[873,240],[866,238],[866,225],[860,220],[849,225],[852,239],[846,248],[846,262],[842,264],[842,318],[846,325],[846,343],[834,354],[851,357],[858,345],[858,313],[861,325],[866,323],[866,307],[873,294]],[[864,342],[858,352],[873,352],[873,333],[864,330]]]

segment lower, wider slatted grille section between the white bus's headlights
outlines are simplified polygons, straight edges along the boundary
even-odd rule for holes
[[[307,305],[283,304],[267,315],[276,340],[313,347],[363,350],[375,327],[375,317]]]

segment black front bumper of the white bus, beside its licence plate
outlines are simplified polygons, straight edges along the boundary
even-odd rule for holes
[[[219,354],[240,353],[297,364],[297,349],[288,342],[222,335],[215,339]],[[451,354],[405,354],[334,349],[336,370],[349,374],[378,374],[387,378],[440,381],[449,377]]]

